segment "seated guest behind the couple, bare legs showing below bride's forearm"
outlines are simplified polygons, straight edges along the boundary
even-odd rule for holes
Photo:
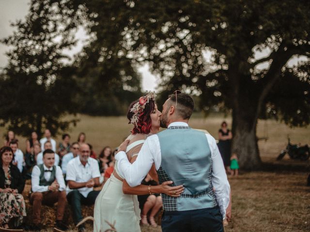
[[[151,176],[147,174],[145,179],[141,183],[142,185],[157,185],[156,181],[152,180]],[[141,224],[149,225],[147,221],[148,212],[150,212],[150,223],[153,227],[156,227],[157,224],[155,222],[155,215],[163,206],[163,202],[161,200],[161,195],[158,193],[153,193],[151,195],[139,195],[138,196],[139,207],[141,209]]]

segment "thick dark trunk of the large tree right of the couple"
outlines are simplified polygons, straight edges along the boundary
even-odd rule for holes
[[[242,108],[233,111],[232,153],[237,154],[240,168],[255,170],[261,166],[256,138],[257,117],[255,116],[255,106],[249,106],[247,110],[245,107]],[[251,111],[254,114],[249,114]],[[245,116],[246,114],[247,116]]]

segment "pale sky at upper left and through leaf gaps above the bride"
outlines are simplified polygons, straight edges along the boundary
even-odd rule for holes
[[[17,19],[24,20],[29,10],[30,0],[0,0],[0,39],[3,39],[13,33],[14,28],[10,27],[12,22]],[[85,33],[82,30],[78,31],[79,38],[85,38]],[[83,42],[79,41],[77,47],[69,51],[69,54],[75,54],[82,48]],[[0,43],[0,68],[7,64],[7,57],[5,52],[9,47]],[[142,75],[141,87],[142,90],[154,91],[158,85],[158,78],[156,79],[149,71],[148,65],[141,66],[138,71]]]

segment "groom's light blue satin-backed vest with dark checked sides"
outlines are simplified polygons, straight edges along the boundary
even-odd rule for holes
[[[165,211],[185,211],[217,206],[211,176],[211,150],[205,134],[189,127],[170,127],[157,134],[161,150],[159,182],[184,185],[180,197],[162,194]]]

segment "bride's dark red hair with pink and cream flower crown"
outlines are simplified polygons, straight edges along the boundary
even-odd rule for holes
[[[131,129],[132,134],[150,133],[152,126],[151,114],[154,109],[155,95],[152,92],[131,102],[128,108],[127,118],[129,123],[134,125],[133,129]]]

